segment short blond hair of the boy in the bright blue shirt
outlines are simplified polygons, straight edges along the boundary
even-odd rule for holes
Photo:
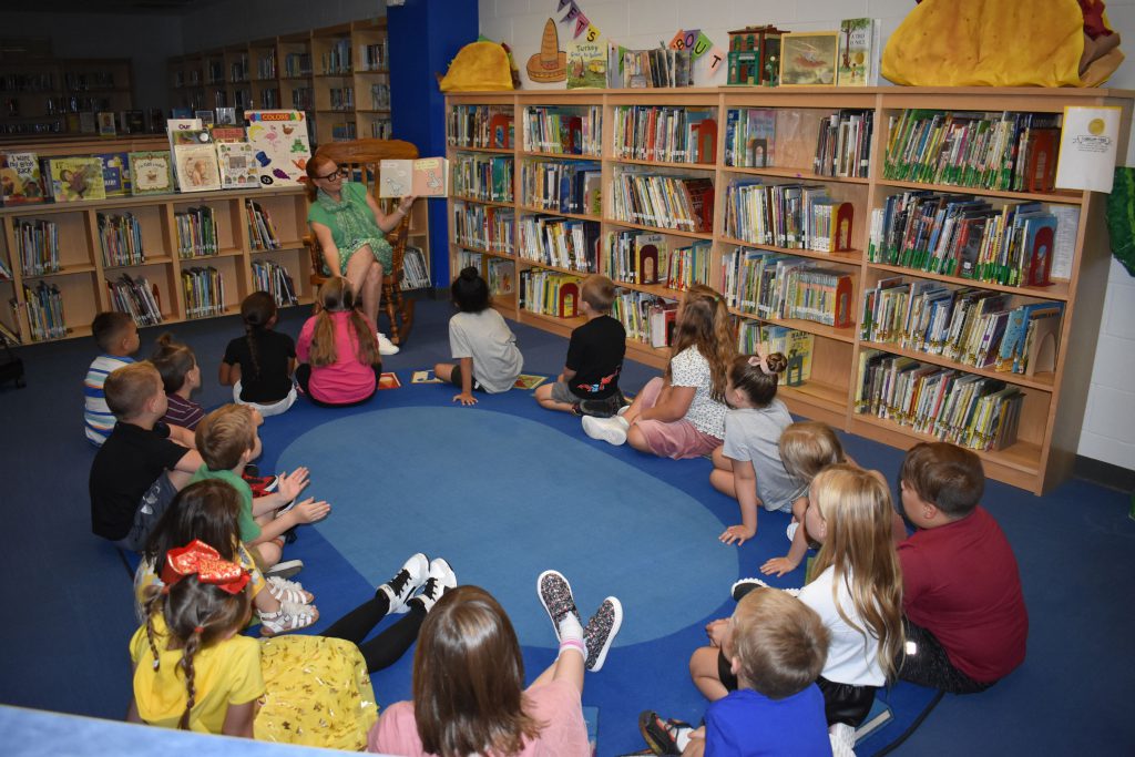
[[[754,589],[737,604],[730,622],[738,678],[770,699],[804,691],[824,670],[831,632],[792,595]]]

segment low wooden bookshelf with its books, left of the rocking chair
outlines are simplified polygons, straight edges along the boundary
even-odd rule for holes
[[[112,179],[124,174],[115,174],[117,150],[131,144],[100,143],[106,161],[45,159],[42,170],[54,202],[6,191],[0,208],[6,336],[25,343],[85,336],[104,310],[128,312],[138,326],[228,314],[257,289],[281,306],[311,302],[306,200],[299,187],[131,194],[134,184]],[[2,157],[19,167],[28,155]],[[67,183],[68,171],[79,174],[91,161],[98,170],[86,174],[90,185],[73,193],[77,185]],[[39,178],[40,161],[24,162],[28,177]],[[132,165],[142,170],[137,160]]]

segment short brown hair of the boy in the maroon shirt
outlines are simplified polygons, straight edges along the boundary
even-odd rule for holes
[[[976,453],[947,441],[923,441],[907,452],[899,470],[924,502],[950,518],[974,512],[985,491],[985,471]]]

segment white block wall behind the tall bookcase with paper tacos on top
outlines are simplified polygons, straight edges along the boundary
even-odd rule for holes
[[[723,50],[732,28],[776,24],[790,31],[830,30],[838,28],[842,18],[861,16],[882,20],[885,43],[915,7],[914,0],[577,0],[577,5],[604,36],[628,48],[655,47],[680,28],[700,28]],[[512,48],[526,89],[563,87],[563,83],[532,84],[524,74],[529,57],[539,51],[548,18],[556,20],[561,50],[571,40],[572,27],[558,23],[564,12],[557,12],[557,0],[479,1],[481,34]],[[1123,47],[1135,51],[1135,0],[1109,0],[1107,12],[1126,40]],[[704,59],[695,66],[697,85],[724,82],[724,66],[712,78]],[[1135,90],[1135,62],[1125,61],[1108,86]],[[1130,142],[1127,165],[1135,166],[1135,140]],[[1108,280],[1079,454],[1135,469],[1135,278],[1119,263],[1112,263]]]

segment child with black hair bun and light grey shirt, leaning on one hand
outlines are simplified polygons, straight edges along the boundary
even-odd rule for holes
[[[449,350],[459,363],[437,363],[434,373],[461,389],[454,402],[476,405],[474,390],[499,394],[511,389],[524,356],[516,347],[516,335],[489,308],[489,285],[476,268],[462,270],[449,293],[461,311],[449,319]]]

